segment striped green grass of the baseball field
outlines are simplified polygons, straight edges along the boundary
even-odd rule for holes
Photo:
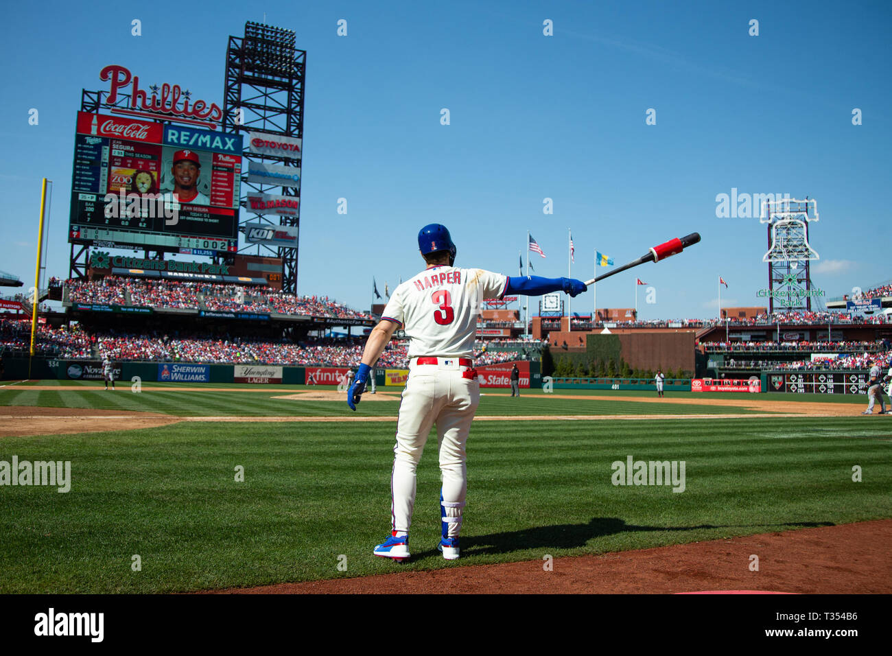
[[[285,387],[244,393],[169,386],[169,391],[142,394],[105,393],[95,383],[57,391],[12,386],[0,388],[0,405],[178,416],[353,415],[343,402],[272,398],[288,394]],[[808,402],[803,395],[781,398]],[[856,417],[863,398],[831,400],[852,403],[853,416],[477,422],[468,443],[462,558],[453,562],[443,561],[435,549],[440,484],[434,434],[418,470],[413,558],[402,565],[371,554],[389,530],[395,422],[201,422],[0,437],[0,461],[13,455],[20,461],[70,461],[72,479],[67,494],[54,487],[0,486],[0,593],[264,585],[541,559],[546,553],[615,552],[892,517],[892,426],[886,418]],[[536,393],[517,401],[486,394],[480,414],[718,411],[706,402],[700,407],[665,401]],[[397,404],[359,408],[358,414],[388,416]],[[611,463],[630,455],[685,461],[685,491],[613,485]],[[862,468],[861,483],[852,480],[855,465]],[[237,466],[244,467],[244,482],[235,481]],[[131,569],[135,554],[141,571]]]

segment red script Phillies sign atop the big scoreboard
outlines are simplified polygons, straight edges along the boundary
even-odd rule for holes
[[[139,78],[129,69],[119,64],[111,64],[99,71],[99,79],[109,82],[109,93],[105,98],[105,104],[114,105],[118,101],[118,94],[130,88],[130,103],[128,106],[113,106],[111,112],[128,114],[130,116],[142,116],[148,119],[176,120],[179,123],[200,125],[208,129],[216,129],[217,124],[223,118],[223,110],[215,103],[207,104],[203,100],[192,100],[188,89],[178,85],[169,85],[167,82],[149,87],[151,95],[145,89],[139,87]]]

